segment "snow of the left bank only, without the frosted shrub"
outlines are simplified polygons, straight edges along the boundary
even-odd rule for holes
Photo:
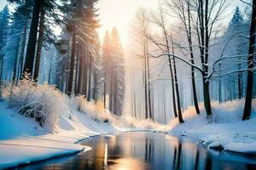
[[[93,108],[87,109],[93,112]],[[112,117],[112,122],[101,122],[73,107],[61,114],[59,125],[55,127],[54,132],[49,132],[48,128],[40,127],[32,118],[20,116],[15,109],[9,109],[7,102],[1,102],[0,169],[90,150],[90,147],[79,144],[79,140],[101,133],[136,131],[156,126],[153,122],[133,120],[131,123],[128,119],[113,123],[116,121],[114,119]],[[141,126],[135,126],[133,123]]]

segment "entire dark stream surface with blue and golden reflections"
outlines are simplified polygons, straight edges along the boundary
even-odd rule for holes
[[[189,141],[160,133],[120,133],[85,140],[92,150],[63,161],[26,169],[256,169],[256,159],[209,152]]]

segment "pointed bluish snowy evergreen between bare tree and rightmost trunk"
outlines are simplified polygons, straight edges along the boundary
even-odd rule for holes
[[[247,54],[247,24],[243,20],[243,16],[240,12],[240,9],[236,7],[236,11],[233,14],[232,19],[230,20],[230,25],[228,26],[224,39],[225,42],[229,44],[228,48],[225,50],[225,54],[230,57],[236,57],[236,59],[228,59],[227,62],[223,64],[219,63],[219,70],[227,71],[237,71],[236,73],[230,74],[224,77],[224,80],[219,80],[219,95],[221,95],[221,88],[224,88],[227,91],[228,96],[224,96],[224,101],[228,99],[241,99],[243,97],[243,88],[245,87],[245,76],[242,75],[242,71],[246,69],[246,62],[244,55]],[[232,62],[230,62],[232,61]],[[223,67],[223,68],[221,68]],[[222,82],[229,83],[222,83]],[[222,84],[223,87],[222,87]],[[237,93],[236,93],[237,92]],[[222,101],[219,97],[220,102]]]

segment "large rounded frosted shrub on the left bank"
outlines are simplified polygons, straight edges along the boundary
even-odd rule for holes
[[[42,127],[54,130],[58,118],[66,107],[65,96],[48,83],[36,85],[28,77],[13,86],[9,93],[10,107],[23,116],[33,117]]]

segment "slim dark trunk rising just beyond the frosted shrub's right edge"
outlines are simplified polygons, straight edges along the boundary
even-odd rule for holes
[[[74,68],[75,52],[76,52],[76,31],[75,31],[75,26],[73,26],[71,59],[70,59],[69,77],[68,77],[68,85],[67,85],[67,95],[69,97],[72,94],[72,88],[73,88],[73,68]]]

